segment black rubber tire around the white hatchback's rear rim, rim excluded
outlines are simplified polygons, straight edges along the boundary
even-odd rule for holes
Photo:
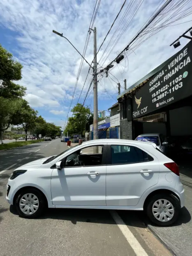
[[[155,218],[155,216],[153,215],[152,207],[153,207],[153,204],[155,203],[155,201],[157,201],[158,199],[168,200],[173,205],[174,215],[171,220],[162,222],[162,221],[157,220]],[[180,201],[173,194],[160,193],[157,195],[153,195],[151,198],[149,198],[148,202],[146,203],[145,211],[146,211],[146,214],[148,215],[149,219],[153,223],[157,224],[158,226],[163,226],[163,227],[171,226],[178,219],[178,215],[180,212]]]

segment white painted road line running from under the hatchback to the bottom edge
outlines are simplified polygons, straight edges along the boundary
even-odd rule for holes
[[[134,250],[135,255],[136,256],[148,256],[146,251],[143,249],[141,244],[139,244],[139,242],[136,240],[136,237],[134,237],[133,233],[127,227],[127,225],[124,223],[124,221],[120,218],[118,213],[114,210],[110,210],[109,212],[111,213],[111,216],[113,217],[117,226],[120,228],[121,232],[125,236],[127,242],[130,244],[130,246]]]

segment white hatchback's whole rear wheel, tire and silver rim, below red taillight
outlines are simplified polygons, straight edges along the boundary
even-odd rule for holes
[[[157,194],[146,205],[146,213],[151,221],[159,226],[170,226],[180,212],[180,201],[172,194]]]

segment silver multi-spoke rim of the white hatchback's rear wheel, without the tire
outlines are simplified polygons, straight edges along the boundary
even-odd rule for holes
[[[175,210],[169,200],[158,199],[152,206],[152,212],[155,219],[161,222],[167,222],[173,218]]]

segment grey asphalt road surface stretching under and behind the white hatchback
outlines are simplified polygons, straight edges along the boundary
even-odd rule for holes
[[[23,219],[9,207],[5,196],[11,172],[25,163],[66,149],[65,142],[56,139],[0,152],[0,256],[171,255],[146,229],[143,212],[48,209],[39,219]],[[172,231],[161,229],[170,236]],[[192,243],[187,247],[191,248]]]

